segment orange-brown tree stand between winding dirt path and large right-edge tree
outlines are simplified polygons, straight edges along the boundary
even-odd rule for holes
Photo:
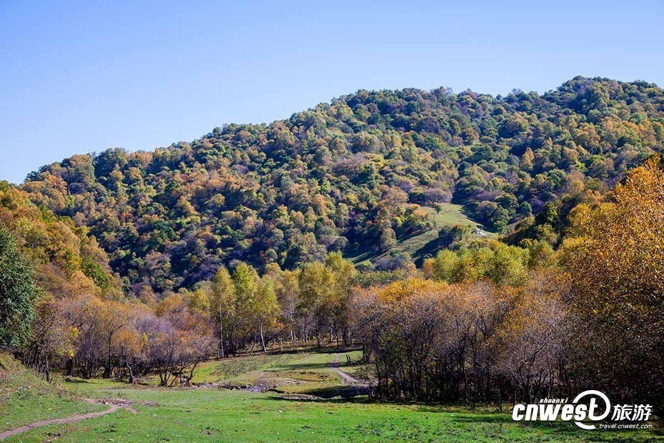
[[[499,404],[571,394],[567,293],[555,271],[517,288],[414,279],[363,292],[357,324],[376,394]]]

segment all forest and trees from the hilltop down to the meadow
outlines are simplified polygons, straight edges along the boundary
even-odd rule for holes
[[[592,387],[659,413],[663,104],[580,77],[542,96],[358,91],[0,181],[0,347],[49,380],[167,386],[211,357],[358,344],[377,397]],[[436,224],[458,205],[491,234]],[[432,231],[416,267],[398,243]]]

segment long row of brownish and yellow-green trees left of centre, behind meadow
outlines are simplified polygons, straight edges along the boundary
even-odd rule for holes
[[[211,357],[266,352],[271,344],[350,344],[354,272],[335,253],[323,264],[272,269],[263,277],[240,262],[232,273],[221,268],[212,281],[159,299],[113,299],[91,292],[40,299],[34,288],[31,294],[10,290],[3,296],[34,304],[34,312],[22,317],[26,334],[19,337],[22,329],[14,330],[11,344],[46,379],[57,368],[66,376],[131,383],[157,374],[161,384],[173,385],[191,382],[198,363]],[[31,282],[29,271],[22,279]]]

